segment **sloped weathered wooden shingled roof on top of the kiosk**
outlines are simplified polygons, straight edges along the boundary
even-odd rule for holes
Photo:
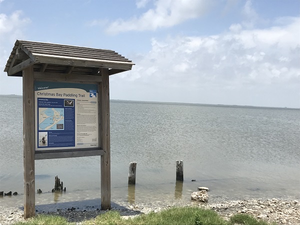
[[[101,68],[109,68],[111,75],[130,70],[134,63],[109,49],[16,40],[4,72],[22,76],[22,69],[30,65],[37,72],[79,75],[97,75]]]

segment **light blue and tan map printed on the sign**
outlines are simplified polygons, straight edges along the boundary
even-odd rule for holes
[[[57,130],[63,129],[63,108],[38,108],[38,129]]]

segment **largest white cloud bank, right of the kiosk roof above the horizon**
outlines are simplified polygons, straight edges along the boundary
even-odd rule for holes
[[[288,21],[290,23],[267,29],[241,29],[238,33],[232,30],[214,36],[152,39],[147,54],[129,57],[136,65],[132,71],[124,73],[119,82],[135,86],[151,83],[153,90],[161,94],[167,86],[164,91],[167,101],[202,103],[230,103],[221,102],[219,95],[213,100],[206,96],[207,93],[235,91],[257,95],[269,90],[278,91],[279,95],[280,86],[293,93],[286,100],[290,101],[289,106],[299,107],[296,99],[299,99],[300,86],[300,17]],[[119,76],[115,80],[112,76],[112,82],[118,79]],[[178,91],[183,91],[187,98],[171,100],[178,97]],[[236,103],[247,104],[242,100]]]

